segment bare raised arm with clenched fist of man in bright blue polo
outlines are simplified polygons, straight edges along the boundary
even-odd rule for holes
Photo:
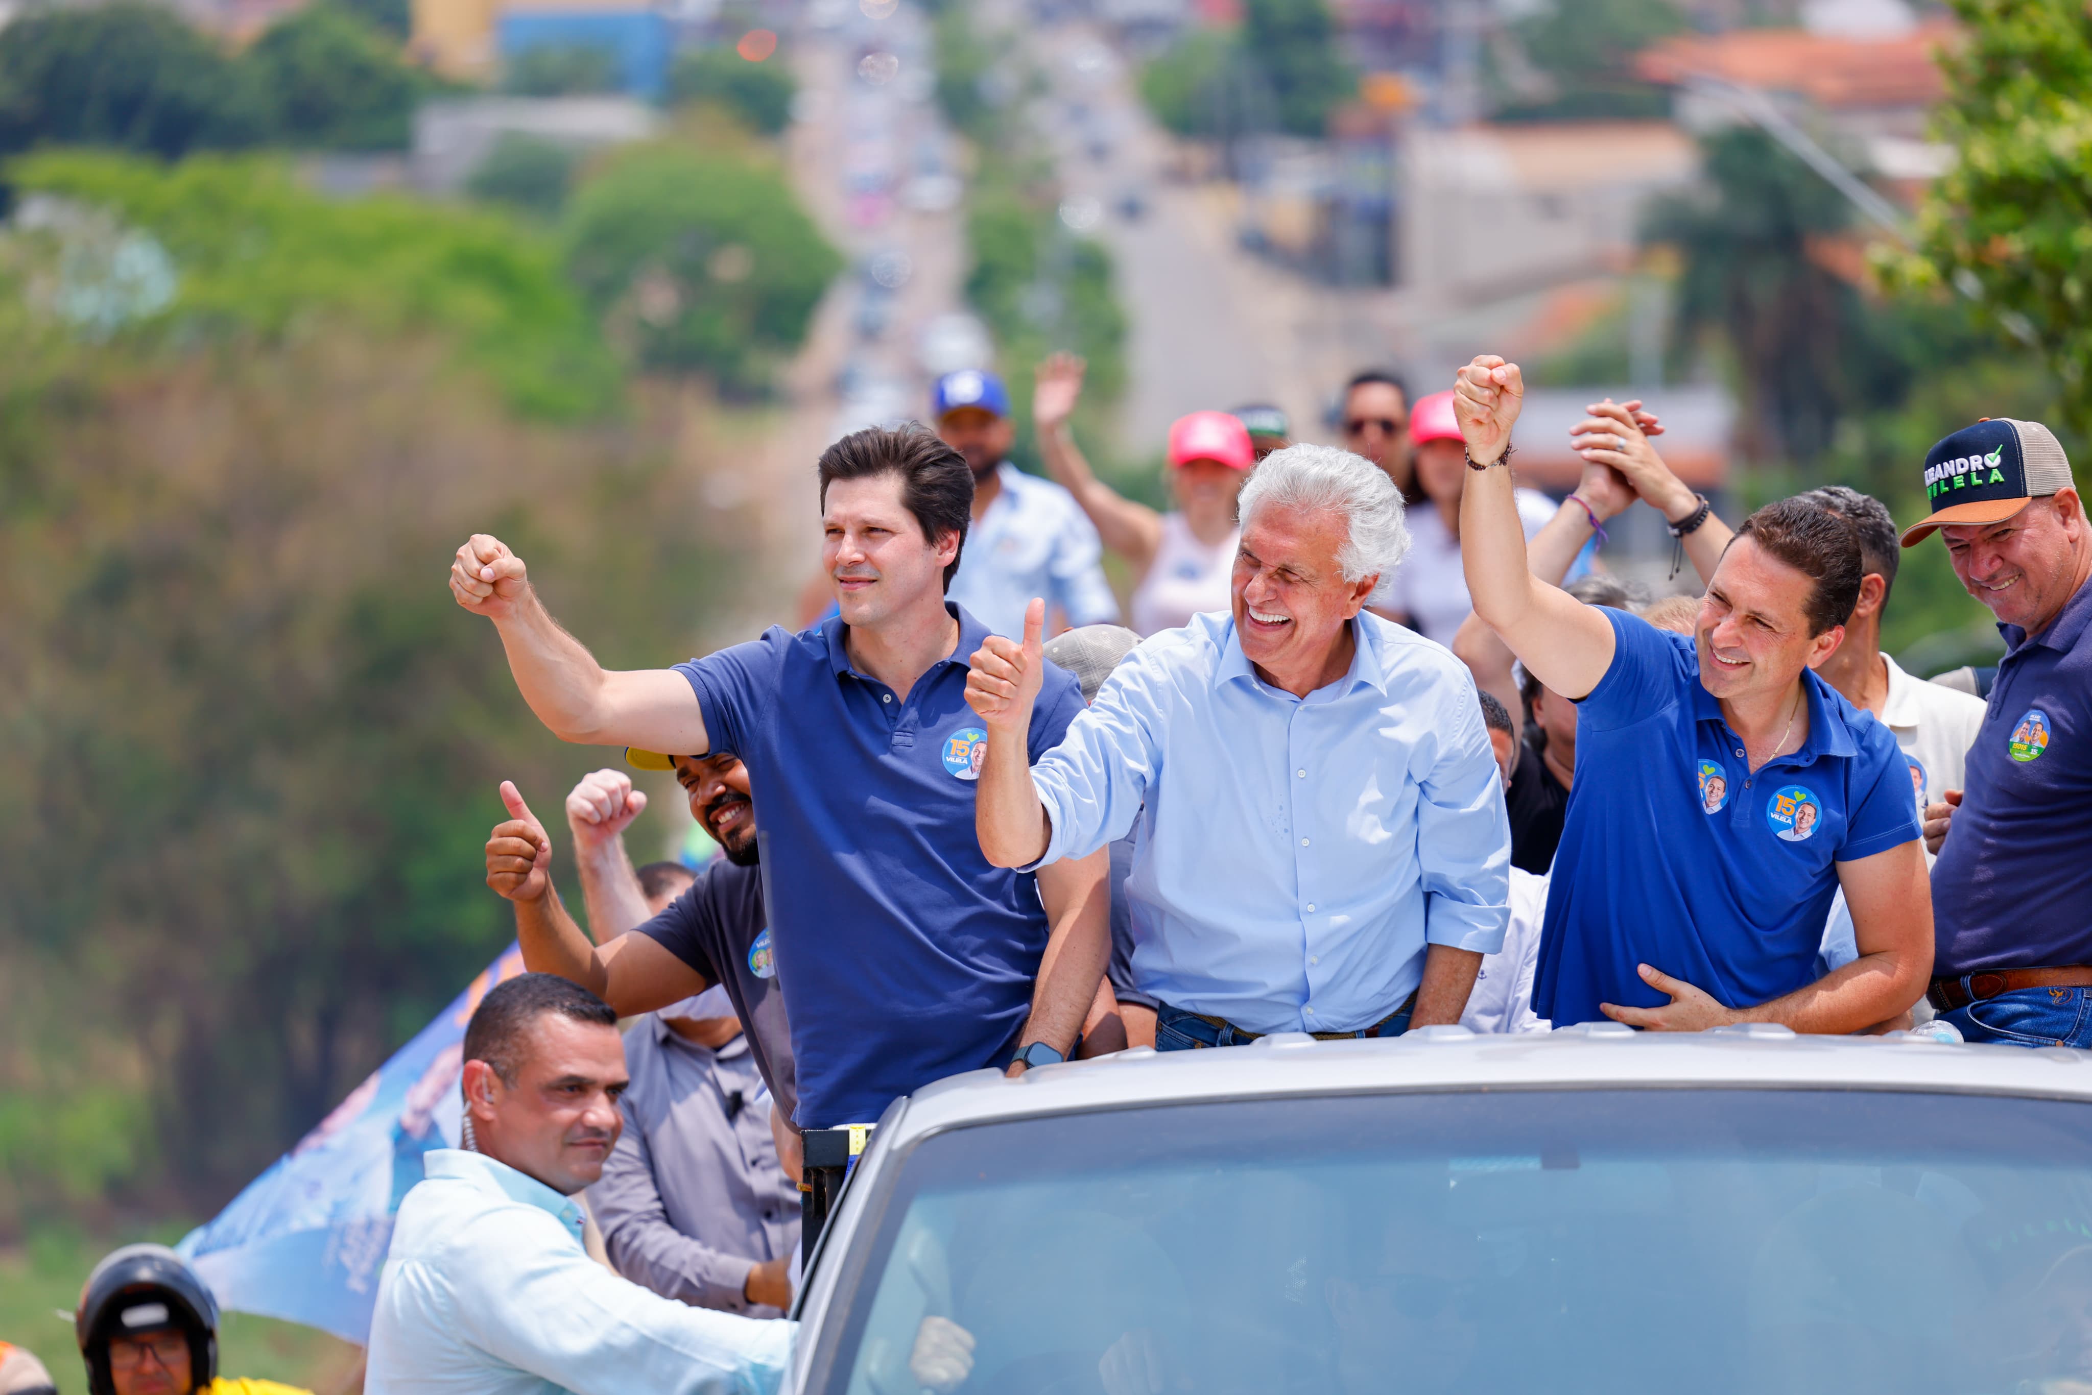
[[[1586,696],[1613,663],[1613,625],[1596,609],[1527,571],[1525,527],[1504,452],[1525,383],[1517,364],[1475,358],[1454,383],[1469,473],[1460,494],[1460,569],[1475,615],[1510,646],[1533,678],[1569,699]]]

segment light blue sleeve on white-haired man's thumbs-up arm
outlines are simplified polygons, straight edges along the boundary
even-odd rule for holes
[[[1021,870],[1088,857],[1134,826],[1161,765],[1155,682],[1161,673],[1134,650],[1069,724],[1061,745],[1031,765],[1031,786],[1052,832],[1040,860]]]

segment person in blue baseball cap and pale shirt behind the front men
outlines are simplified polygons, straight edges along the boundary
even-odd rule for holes
[[[1046,598],[1054,630],[1119,619],[1090,517],[1061,485],[1008,462],[1010,393],[983,368],[937,379],[931,416],[973,471],[973,529],[950,596],[994,634],[1019,636],[1025,607]]]

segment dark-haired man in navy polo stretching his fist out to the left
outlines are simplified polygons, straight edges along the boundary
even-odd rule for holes
[[[561,740],[747,763],[801,1129],[874,1121],[956,1071],[1063,1058],[1111,952],[1102,851],[1017,874],[973,837],[987,734],[967,659],[987,630],[943,598],[973,502],[964,458],[918,429],[858,431],[822,452],[820,500],[841,613],[674,669],[605,671],[496,538],[458,548],[450,575]],[[1079,709],[1052,669],[1033,757]]]

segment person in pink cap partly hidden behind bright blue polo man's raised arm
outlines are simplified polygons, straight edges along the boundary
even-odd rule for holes
[[[1640,406],[1640,404],[1636,404]],[[1460,571],[1460,489],[1466,483],[1466,445],[1452,414],[1452,393],[1418,397],[1410,412],[1416,489],[1425,502],[1410,517],[1410,554],[1372,592],[1372,609],[1408,625],[1427,640],[1452,646],[1473,602]],[[1538,489],[1519,489],[1519,521],[1525,540],[1554,517],[1554,500]]]

